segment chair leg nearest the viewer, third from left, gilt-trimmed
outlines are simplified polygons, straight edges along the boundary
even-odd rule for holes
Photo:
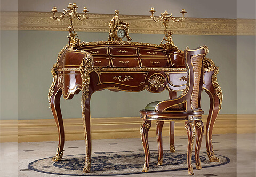
[[[188,134],[188,150],[187,150],[187,164],[188,164],[188,174],[194,175],[193,173],[193,167],[191,164],[191,157],[192,157],[192,149],[193,149],[193,143],[194,138],[196,134],[195,125],[193,122],[185,122],[185,128]]]

